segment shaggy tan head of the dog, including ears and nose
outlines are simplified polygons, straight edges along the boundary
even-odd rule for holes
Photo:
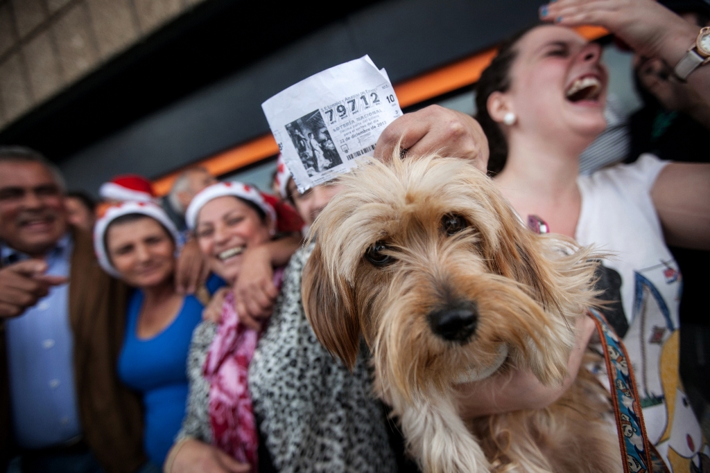
[[[495,368],[506,351],[562,381],[572,317],[593,296],[584,250],[534,235],[464,160],[373,160],[342,182],[313,226],[302,284],[328,350],[352,366],[363,334],[379,385],[407,398]]]

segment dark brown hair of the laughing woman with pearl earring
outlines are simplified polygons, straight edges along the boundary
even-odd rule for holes
[[[507,40],[503,41],[498,48],[498,55],[493,58],[491,65],[488,65],[481,74],[479,82],[476,83],[476,120],[481,124],[481,128],[488,138],[488,148],[491,155],[488,157],[488,174],[498,174],[506,166],[508,159],[508,143],[503,135],[503,130],[488,114],[488,97],[493,92],[506,92],[510,89],[510,67],[513,66],[518,50],[515,45],[520,38],[542,26],[545,23],[535,23],[524,30],[515,33]]]

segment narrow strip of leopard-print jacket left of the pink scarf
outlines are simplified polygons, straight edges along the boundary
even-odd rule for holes
[[[196,438],[204,443],[212,443],[212,429],[209,426],[209,383],[202,376],[202,367],[207,358],[207,350],[217,333],[217,324],[203,321],[192,332],[190,351],[187,353],[187,380],[190,391],[187,394],[185,418],[175,442],[184,438]]]

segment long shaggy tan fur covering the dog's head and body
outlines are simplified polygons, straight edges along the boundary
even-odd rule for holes
[[[344,189],[312,227],[317,238],[303,276],[305,312],[321,343],[350,367],[364,335],[373,352],[376,391],[400,417],[422,468],[618,469],[609,468],[619,461],[618,448],[611,463],[604,461],[610,448],[596,441],[599,428],[587,425],[562,430],[569,435],[588,428],[578,437],[596,441],[596,450],[585,445],[596,458],[574,457],[569,470],[557,468],[564,459],[547,458],[553,451],[559,455],[555,442],[547,445],[542,438],[552,438],[546,433],[561,406],[584,411],[577,417],[590,425],[601,423],[608,408],[599,401],[603,391],[584,376],[558,401],[561,406],[555,404],[557,411],[553,406],[471,423],[483,449],[457,416],[455,384],[494,366],[501,345],[508,357],[498,371],[527,369],[544,384],[563,382],[575,319],[595,303],[591,250],[559,235],[530,232],[491,180],[464,160],[395,155],[385,164],[370,160],[341,182]],[[442,218],[452,215],[466,226],[449,235]],[[390,264],[374,265],[365,257],[376,242],[386,245],[380,255],[391,257]],[[464,340],[446,340],[432,330],[430,314],[457,306],[472,308],[476,328]],[[577,403],[586,404],[580,411]]]

